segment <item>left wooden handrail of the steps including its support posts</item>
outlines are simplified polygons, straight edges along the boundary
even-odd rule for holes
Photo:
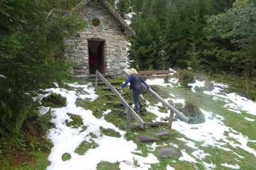
[[[128,119],[128,117],[129,117],[129,125],[127,125],[127,127],[126,127],[126,133],[129,134],[129,130],[127,130],[127,129],[130,129],[130,114],[132,114],[133,117],[134,117],[134,119],[138,122],[138,124],[139,124],[143,129],[145,129],[146,124],[145,124],[144,121],[141,119],[141,117],[139,117],[138,114],[135,113],[134,110],[130,107],[130,105],[126,103],[126,101],[125,101],[125,100],[123,99],[123,97],[118,93],[118,91],[112,86],[112,84],[110,84],[110,83],[108,82],[108,80],[106,80],[106,79],[104,78],[104,76],[101,75],[100,72],[98,72],[98,70],[96,70],[96,80],[97,80],[97,81],[98,81],[98,78],[100,78],[100,79],[102,80],[102,82],[104,82],[104,83],[106,84],[106,86],[108,86],[108,88],[113,91],[113,93],[115,94],[115,96],[117,97],[117,99],[118,99],[119,101],[121,101],[121,103],[123,104],[123,106],[127,109],[127,119]],[[97,85],[96,85],[96,84],[97,84],[97,82],[95,82],[95,88],[97,89]],[[126,122],[127,122],[127,121],[128,121],[128,120],[126,120]],[[127,131],[128,131],[128,132],[127,132]]]

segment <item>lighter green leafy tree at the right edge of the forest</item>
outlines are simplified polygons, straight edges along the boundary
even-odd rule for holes
[[[224,13],[208,18],[208,39],[222,43],[211,52],[234,73],[245,73],[250,79],[256,69],[256,3],[237,0]],[[219,63],[218,62],[218,63]],[[223,65],[219,69],[223,69]]]

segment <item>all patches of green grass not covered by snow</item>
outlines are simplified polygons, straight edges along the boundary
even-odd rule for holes
[[[125,79],[123,78],[113,78],[109,79],[110,82],[124,82]],[[80,81],[79,84],[83,84],[85,82]],[[63,84],[63,87],[66,85]],[[116,85],[116,88],[121,86],[121,84]],[[105,120],[108,122],[111,122],[115,126],[117,126],[120,130],[125,131],[126,130],[126,114],[123,112],[118,112],[118,110],[124,110],[125,108],[122,107],[122,105],[118,104],[118,99],[115,96],[106,96],[106,94],[112,94],[111,91],[106,91],[103,89],[104,86],[98,86],[98,90],[96,91],[96,94],[98,95],[97,100],[89,101],[89,100],[82,100],[77,99],[76,104],[79,107],[82,107],[84,109],[90,109],[92,110],[92,113],[95,117],[101,118],[104,116]],[[185,99],[185,100],[192,100],[195,101],[195,104],[197,107],[204,109],[207,112],[215,113],[212,117],[215,117],[218,115],[223,116],[225,119],[224,124],[225,126],[228,126],[232,128],[233,130],[236,130],[238,133],[242,133],[243,135],[246,135],[250,140],[256,140],[256,131],[252,128],[256,126],[256,122],[254,121],[247,121],[244,117],[254,118],[255,116],[251,116],[250,114],[247,114],[245,112],[242,112],[241,114],[234,113],[231,111],[228,111],[228,109],[224,108],[223,106],[226,104],[222,100],[212,100],[212,96],[205,95],[202,92],[191,92],[190,89],[184,88],[184,87],[175,87],[175,88],[167,88],[167,87],[159,87],[159,86],[151,86],[151,88],[156,91],[163,99],[166,99],[170,97],[170,94],[175,95],[178,99]],[[69,90],[73,90],[73,88],[68,87]],[[81,91],[77,89],[78,91]],[[129,88],[123,88],[123,92],[127,92],[127,95],[123,95],[122,97],[126,101],[133,101],[132,95],[130,94]],[[143,98],[150,102],[151,105],[154,105],[158,103],[158,101],[155,99],[154,96],[152,96],[150,93],[144,91],[143,92]],[[144,100],[143,100],[144,102]],[[172,104],[172,102],[170,101]],[[110,109],[112,112],[109,114],[103,115],[102,113]],[[160,112],[167,113],[168,110],[166,107],[160,107]],[[82,125],[81,117],[77,115],[70,114],[69,115],[73,121],[66,122],[67,125],[73,126],[74,128],[82,127],[83,130],[85,130],[87,127]],[[168,115],[167,115],[168,116]],[[152,122],[152,120],[155,119],[155,114],[152,114],[150,112],[143,112],[142,119],[145,122]],[[131,119],[131,124],[135,124],[135,120]],[[168,130],[170,132],[170,135],[165,137],[155,137],[154,133],[161,131],[161,130]],[[120,137],[120,134],[112,129],[104,129],[100,128],[101,133],[104,135],[109,135],[111,137]],[[227,136],[227,139],[229,141],[233,141],[234,143],[238,143],[236,139],[230,138],[228,136],[229,132],[226,132],[225,135]],[[86,151],[88,151],[90,148],[96,148],[97,144],[93,141],[93,138],[96,138],[96,135],[90,134],[92,139],[90,139],[90,142],[82,142],[79,147],[76,148],[75,152],[79,155],[83,155]],[[170,165],[171,167],[174,167],[175,169],[205,169],[204,165],[201,164],[200,159],[196,158],[196,161],[199,163],[191,163],[191,162],[184,162],[179,160],[179,158],[168,158],[168,159],[161,159],[158,150],[162,148],[163,146],[159,146],[156,148],[155,151],[148,151],[147,145],[152,145],[151,142],[138,142],[136,141],[136,138],[138,135],[148,135],[151,137],[154,137],[156,140],[156,145],[163,145],[163,143],[166,143],[169,145],[170,143],[176,144],[177,146],[180,146],[179,150],[184,150],[186,153],[191,154],[192,152],[196,151],[196,149],[188,147],[185,145],[185,142],[180,141],[177,138],[185,138],[189,141],[191,139],[186,138],[183,134],[180,134],[175,129],[167,129],[165,126],[159,126],[152,128],[149,125],[146,125],[146,129],[139,128],[131,128],[130,134],[125,135],[125,138],[127,140],[134,141],[134,143],[137,144],[138,150],[142,151],[142,154],[138,154],[140,156],[147,156],[148,153],[154,154],[158,160],[160,161],[159,164],[152,164],[151,169],[166,169],[167,165]],[[7,142],[7,141],[3,141]],[[235,165],[237,164],[237,160],[239,161],[239,165],[241,169],[255,169],[256,168],[256,159],[253,154],[250,154],[249,152],[237,147],[234,149],[232,146],[227,144],[225,147],[232,148],[238,155],[243,155],[245,158],[240,158],[238,155],[234,154],[232,151],[224,151],[217,147],[203,147],[201,146],[201,142],[196,142],[196,146],[199,147],[200,150],[204,150],[209,156],[206,156],[204,158],[204,162],[208,164],[216,164],[216,169],[230,169],[227,167],[223,167],[220,164],[224,162],[228,164]],[[221,141],[220,141],[221,142]],[[2,143],[1,143],[2,145]],[[248,147],[254,148],[256,150],[256,145],[254,142],[248,142]],[[49,165],[49,162],[47,160],[49,155],[49,150],[47,151],[37,151],[37,150],[24,150],[21,149],[19,152],[19,155],[15,154],[7,154],[3,155],[0,154],[0,169],[46,169],[46,167]],[[20,158],[20,159],[19,159]],[[21,159],[22,158],[22,159]],[[70,159],[69,154],[63,155],[63,161]],[[105,170],[105,169],[118,169],[119,162],[115,163],[109,163],[109,162],[101,162],[98,163],[97,169],[99,170]],[[197,168],[196,168],[197,167]]]

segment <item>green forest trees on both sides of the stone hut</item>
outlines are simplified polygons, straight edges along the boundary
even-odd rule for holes
[[[15,147],[3,142],[38,118],[28,93],[72,78],[64,40],[88,24],[67,15],[80,1],[0,1],[0,154]],[[108,2],[136,32],[129,39],[131,67],[185,73],[191,67],[256,100],[255,0]]]

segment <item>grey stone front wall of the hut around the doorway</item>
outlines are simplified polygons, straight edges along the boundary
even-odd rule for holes
[[[72,40],[66,40],[69,45],[69,58],[77,63],[71,72],[77,78],[89,75],[88,40],[104,41],[105,74],[122,75],[122,69],[127,67],[126,37],[122,33],[122,26],[101,3],[90,2],[79,11],[81,20],[88,22],[86,28],[77,32]],[[94,27],[92,19],[100,20],[100,25]],[[70,50],[72,49],[72,50]]]

